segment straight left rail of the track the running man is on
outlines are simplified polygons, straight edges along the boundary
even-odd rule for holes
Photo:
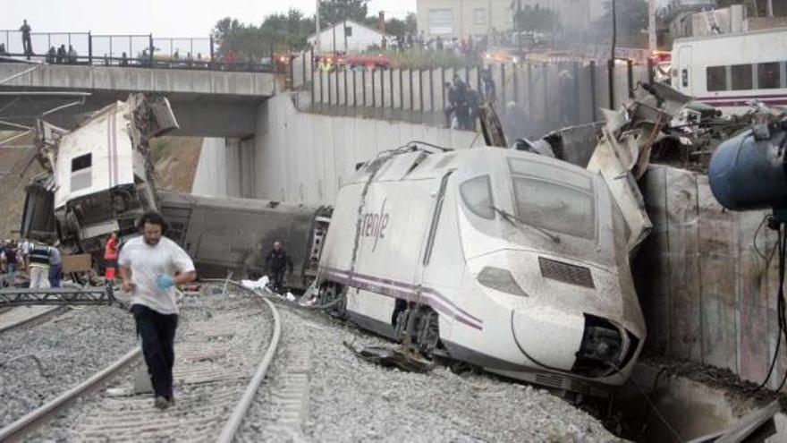
[[[13,422],[0,430],[0,441],[19,441],[27,433],[35,430],[38,426],[47,422],[53,415],[65,405],[68,405],[72,400],[85,394],[93,388],[97,388],[102,382],[114,376],[117,372],[122,371],[127,365],[136,360],[142,354],[140,346],[135,347],[128,354],[123,355],[119,360],[106,367],[104,370],[97,372],[89,379],[80,383],[80,385],[71,388],[60,396],[57,396],[52,401],[38,407],[38,409],[31,411],[27,415],[21,417],[16,422]]]

